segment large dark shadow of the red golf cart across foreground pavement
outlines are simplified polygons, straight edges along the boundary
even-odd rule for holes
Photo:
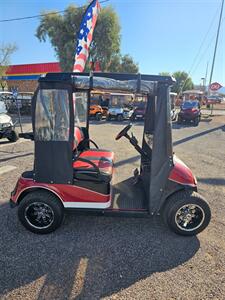
[[[35,299],[99,299],[183,264],[200,247],[148,218],[68,214],[56,232],[35,235],[16,210],[0,206],[0,298],[32,290]]]

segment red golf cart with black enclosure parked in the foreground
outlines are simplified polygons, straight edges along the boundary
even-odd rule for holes
[[[112,73],[51,73],[39,79],[32,99],[34,167],[24,172],[11,194],[22,224],[49,233],[66,209],[110,216],[162,215],[176,233],[195,235],[210,221],[210,208],[197,193],[191,170],[173,155],[169,76]],[[140,169],[114,197],[114,153],[89,136],[91,91],[127,92],[147,97],[142,145],[129,124],[126,138],[140,154]],[[93,147],[91,147],[91,145]],[[118,195],[117,195],[118,196]]]

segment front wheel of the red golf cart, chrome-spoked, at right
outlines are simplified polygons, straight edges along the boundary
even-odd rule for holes
[[[201,195],[192,191],[181,191],[167,199],[163,209],[163,217],[165,224],[175,233],[192,236],[200,233],[208,226],[211,211],[208,203]],[[182,224],[182,222],[184,223]],[[186,222],[188,223],[186,224]]]

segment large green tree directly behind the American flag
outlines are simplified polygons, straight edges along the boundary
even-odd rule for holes
[[[63,71],[72,71],[75,40],[79,31],[84,7],[70,5],[63,15],[48,14],[41,17],[36,36],[40,41],[49,38]],[[101,9],[90,46],[89,61],[100,61],[107,70],[111,58],[120,51],[120,25],[112,7]],[[87,67],[89,63],[87,62]]]

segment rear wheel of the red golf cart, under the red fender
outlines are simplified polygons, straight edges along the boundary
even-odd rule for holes
[[[37,207],[39,207],[39,210],[37,210]],[[48,216],[47,220],[46,216],[45,219],[41,216],[41,213],[43,213],[41,210],[46,210],[44,213]],[[37,216],[37,213],[40,215]],[[20,202],[18,217],[28,230],[34,233],[45,234],[53,232],[61,225],[64,217],[64,208],[55,195],[46,191],[34,191],[27,194]],[[37,220],[38,218],[39,220]]]

